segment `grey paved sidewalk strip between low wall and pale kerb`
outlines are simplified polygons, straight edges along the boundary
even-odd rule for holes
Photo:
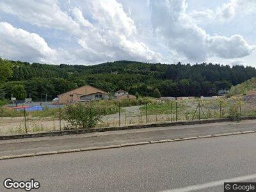
[[[116,145],[140,141],[186,138],[190,136],[203,136],[208,134],[255,129],[256,120],[246,120],[239,124],[234,122],[222,122],[215,124],[179,125],[173,127],[154,127],[125,131],[94,132],[90,134],[7,140],[0,141],[0,156]]]

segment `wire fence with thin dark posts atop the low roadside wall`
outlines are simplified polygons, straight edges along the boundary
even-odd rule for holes
[[[98,127],[156,122],[191,121],[240,116],[256,116],[255,103],[241,99],[156,100],[139,106],[122,106],[102,116]],[[7,106],[0,108],[0,134],[18,134],[66,129],[65,106]]]

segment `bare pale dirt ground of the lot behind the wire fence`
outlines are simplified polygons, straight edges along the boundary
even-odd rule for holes
[[[141,114],[141,106],[131,106],[123,108],[124,112],[120,113],[120,124],[145,124],[146,116]],[[174,119],[174,116],[173,116]],[[161,122],[171,120],[170,115],[148,115],[147,122]],[[61,129],[63,129],[67,122],[61,120]],[[119,114],[106,115],[102,117],[99,127],[117,126],[119,125]],[[0,118],[0,134],[22,133],[25,132],[24,117],[2,117]],[[52,131],[60,130],[60,121],[58,118],[27,118],[28,132],[38,131]]]

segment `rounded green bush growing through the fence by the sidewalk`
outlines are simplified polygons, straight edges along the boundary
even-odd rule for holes
[[[95,104],[71,104],[63,111],[63,119],[70,125],[70,128],[88,129],[95,127],[102,117],[102,110]]]

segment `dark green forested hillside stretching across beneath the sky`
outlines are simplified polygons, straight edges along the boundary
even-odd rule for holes
[[[256,76],[253,67],[202,63],[172,64],[115,61],[99,65],[47,65],[0,60],[0,99],[51,98],[84,84],[106,92],[119,89],[131,94],[161,96],[210,96],[222,88]]]

